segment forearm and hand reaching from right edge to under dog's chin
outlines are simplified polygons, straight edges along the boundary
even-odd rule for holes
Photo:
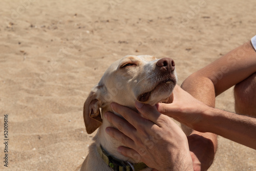
[[[174,91],[173,103],[156,105],[160,113],[199,132],[211,132],[256,149],[256,118],[211,108],[180,87]]]

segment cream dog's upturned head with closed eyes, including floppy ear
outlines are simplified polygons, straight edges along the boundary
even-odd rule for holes
[[[128,55],[115,61],[84,103],[83,117],[88,134],[102,122],[100,108],[117,102],[134,109],[136,100],[155,105],[172,94],[176,82],[173,59]]]

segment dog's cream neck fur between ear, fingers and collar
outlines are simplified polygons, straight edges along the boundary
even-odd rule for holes
[[[119,114],[114,112],[109,105],[107,108],[101,109],[101,114],[104,114],[105,112],[113,112],[116,115],[120,116]],[[97,146],[101,145],[109,155],[114,156],[119,160],[129,161],[131,163],[138,163],[138,161],[136,161],[135,159],[125,157],[121,155],[119,152],[117,152],[117,147],[123,146],[124,144],[112,138],[110,135],[106,134],[105,132],[106,127],[114,127],[114,126],[104,116],[102,116],[102,124],[99,127],[96,136],[94,137]]]

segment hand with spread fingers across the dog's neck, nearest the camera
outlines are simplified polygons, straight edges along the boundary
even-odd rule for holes
[[[136,102],[145,118],[125,106],[111,105],[127,120],[110,112],[104,115],[119,130],[107,127],[106,133],[126,146],[118,147],[122,155],[158,170],[193,170],[187,137],[172,119],[148,104]]]

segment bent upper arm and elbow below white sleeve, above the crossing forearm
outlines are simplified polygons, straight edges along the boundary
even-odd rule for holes
[[[250,41],[191,74],[182,83],[182,89],[212,106],[208,99],[220,95],[230,87],[256,72],[256,52]],[[213,91],[212,91],[213,90]],[[200,93],[203,91],[202,93]],[[210,91],[208,93],[208,91]],[[199,94],[199,95],[197,95]],[[209,97],[211,96],[211,97]],[[200,99],[199,99],[200,100]],[[200,100],[200,101],[202,101]]]

